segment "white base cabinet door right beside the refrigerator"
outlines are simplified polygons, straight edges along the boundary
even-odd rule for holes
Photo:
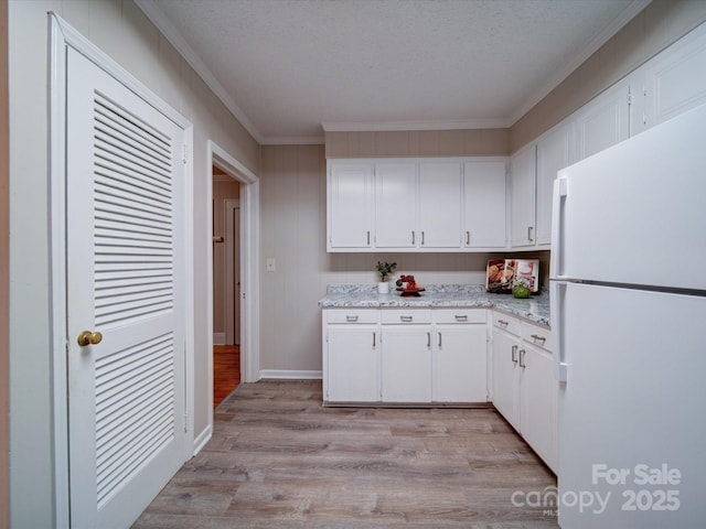
[[[557,468],[557,393],[552,356],[523,343],[520,350],[521,424],[527,443],[554,471]]]

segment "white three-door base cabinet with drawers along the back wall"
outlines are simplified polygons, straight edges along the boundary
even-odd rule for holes
[[[327,403],[488,401],[486,311],[327,309]]]

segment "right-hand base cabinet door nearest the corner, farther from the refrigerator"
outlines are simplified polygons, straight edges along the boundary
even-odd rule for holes
[[[520,430],[520,338],[493,332],[493,406]]]

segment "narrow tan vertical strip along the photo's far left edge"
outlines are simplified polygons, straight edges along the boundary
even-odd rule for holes
[[[10,527],[8,148],[8,2],[0,0],[0,529]]]

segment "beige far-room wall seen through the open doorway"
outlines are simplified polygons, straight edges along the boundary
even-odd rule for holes
[[[214,168],[215,169],[215,168]],[[213,244],[213,332],[225,333],[225,201],[240,196],[240,183],[214,171],[213,236],[223,242]]]

